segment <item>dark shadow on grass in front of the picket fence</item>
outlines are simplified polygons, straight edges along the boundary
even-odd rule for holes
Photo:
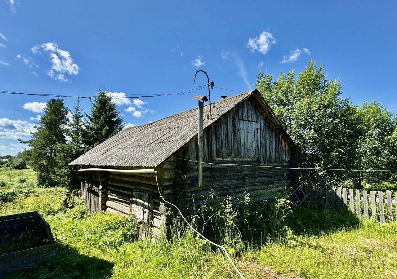
[[[300,235],[320,236],[357,229],[360,226],[360,220],[348,210],[299,208],[287,217],[285,225]]]

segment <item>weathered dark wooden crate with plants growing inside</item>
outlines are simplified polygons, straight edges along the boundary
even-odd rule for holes
[[[58,249],[50,225],[37,211],[1,216],[0,247],[29,231],[34,231],[35,237],[42,239],[42,242],[38,241],[36,247],[0,255],[0,277],[12,271],[33,268],[57,254]]]

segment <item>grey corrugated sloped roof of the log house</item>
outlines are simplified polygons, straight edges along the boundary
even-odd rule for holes
[[[255,89],[216,102],[215,107],[211,108],[212,119],[206,117],[207,114],[210,114],[209,105],[204,106],[204,129],[252,95],[262,101],[260,103],[265,110],[270,110],[259,91]],[[275,125],[278,125],[278,129],[281,127],[280,134],[286,137],[286,143],[290,148],[295,148],[295,144],[288,137],[276,116],[271,110],[268,112],[272,114],[271,118]],[[69,165],[157,166],[197,135],[197,117],[198,108],[194,108],[152,123],[124,129]]]

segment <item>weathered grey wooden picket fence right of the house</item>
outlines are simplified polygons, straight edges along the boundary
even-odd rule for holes
[[[374,216],[381,224],[397,221],[397,192],[354,190],[348,188],[305,188],[305,202],[328,210],[350,210],[357,217]]]

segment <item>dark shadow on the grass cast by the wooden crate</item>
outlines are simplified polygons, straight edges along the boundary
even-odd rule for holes
[[[76,249],[58,242],[58,254],[27,271],[15,271],[6,278],[77,279],[109,278],[113,264],[106,260],[80,254]]]

